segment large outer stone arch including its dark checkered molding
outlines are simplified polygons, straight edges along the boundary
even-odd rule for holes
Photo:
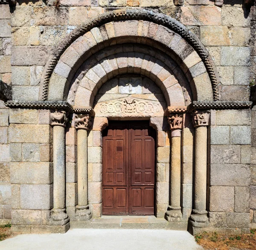
[[[108,12],[74,30],[49,58],[41,80],[41,99],[65,99],[64,93],[67,95],[85,60],[103,48],[122,43],[158,48],[186,75],[196,93],[194,100],[218,99],[218,77],[198,38],[177,20],[146,10]],[[56,91],[58,96],[52,96]]]

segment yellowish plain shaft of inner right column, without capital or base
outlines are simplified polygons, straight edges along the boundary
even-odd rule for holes
[[[173,136],[173,134],[179,136]],[[180,209],[180,130],[172,131],[172,149],[171,149],[171,207]]]

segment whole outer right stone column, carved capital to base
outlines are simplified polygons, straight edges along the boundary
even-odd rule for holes
[[[207,195],[207,126],[209,111],[194,111],[195,125],[195,202],[190,220],[193,227],[205,227],[209,222]]]

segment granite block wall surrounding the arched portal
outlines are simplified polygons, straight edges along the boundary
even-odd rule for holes
[[[256,72],[256,8],[242,8],[242,1],[232,0],[224,3],[185,0],[182,4],[173,0],[19,0],[16,6],[0,4],[0,80],[12,85],[12,99],[37,101],[46,62],[64,37],[86,20],[122,8],[147,9],[169,15],[182,23],[201,40],[212,56],[221,82],[218,86],[220,99],[249,100],[249,83],[254,84]],[[165,34],[164,31],[161,34]],[[106,34],[106,37],[108,35],[111,34]],[[164,42],[164,37],[162,40]],[[68,54],[66,59],[75,64],[76,54]],[[195,58],[189,60],[194,66]],[[184,67],[182,63],[180,65]],[[62,66],[57,72],[61,75],[66,74],[65,67],[71,70],[64,63]],[[203,69],[205,73],[206,69]],[[201,70],[195,68],[194,72],[197,74]],[[53,73],[52,78],[55,75]],[[61,83],[59,79],[55,82]],[[51,93],[58,94],[58,91]],[[84,98],[81,92],[80,96]],[[73,118],[69,117],[65,129],[66,206],[70,215],[77,205],[77,135],[71,122]],[[49,210],[53,207],[53,137],[49,124],[49,110],[9,109],[3,101],[0,102],[0,222],[12,218],[17,229],[27,233],[46,227]],[[93,126],[97,127],[96,122]],[[219,227],[229,228],[232,232],[238,231],[236,228],[246,231],[250,223],[256,223],[255,131],[254,108],[252,111],[211,111],[207,169],[209,230]],[[88,133],[89,193],[101,185],[101,176],[93,172],[99,173],[102,168],[100,133],[99,129]],[[169,150],[169,137],[166,134],[163,137],[163,148],[168,146]],[[181,204],[184,220],[189,217],[194,202],[194,137],[195,129],[190,121],[182,134]],[[157,165],[162,171],[157,178],[165,185],[169,178],[163,170],[169,169],[166,163],[168,161]],[[100,193],[89,196],[96,216],[101,214],[99,196]],[[161,216],[166,205],[159,208]]]

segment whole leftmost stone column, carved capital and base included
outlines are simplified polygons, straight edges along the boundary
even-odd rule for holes
[[[54,221],[68,219],[66,213],[66,181],[65,181],[65,125],[67,122],[66,111],[52,111],[51,125],[53,126],[53,209]]]

